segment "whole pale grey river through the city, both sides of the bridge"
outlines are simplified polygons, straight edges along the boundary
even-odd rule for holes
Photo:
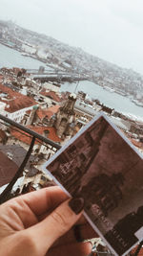
[[[38,69],[41,65],[49,69],[43,62],[34,58],[24,57],[21,53],[0,44],[0,68],[5,66],[9,68],[23,67],[26,69]],[[104,105],[110,106],[118,112],[143,120],[143,107],[135,105],[127,97],[107,91],[91,81],[79,81],[78,85],[77,83],[66,82],[61,86],[62,91],[74,92],[75,88],[76,91],[82,90],[92,98],[98,99]]]

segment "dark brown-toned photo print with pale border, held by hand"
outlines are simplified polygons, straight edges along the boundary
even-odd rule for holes
[[[100,114],[46,164],[117,255],[143,237],[143,159]]]

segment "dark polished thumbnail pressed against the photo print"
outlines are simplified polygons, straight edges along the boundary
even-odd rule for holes
[[[79,214],[84,208],[84,198],[72,198],[69,206],[75,214]]]

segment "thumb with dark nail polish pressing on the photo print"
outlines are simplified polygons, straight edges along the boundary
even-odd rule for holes
[[[37,223],[26,231],[32,241],[46,253],[51,244],[71,229],[80,218],[84,207],[83,198],[72,198],[60,204],[44,221]]]

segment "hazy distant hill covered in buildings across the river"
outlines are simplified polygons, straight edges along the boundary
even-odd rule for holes
[[[0,21],[0,42],[67,71],[87,74],[89,79],[109,90],[133,97],[143,104],[143,77],[132,69],[94,57],[51,36],[21,28],[10,21]]]

